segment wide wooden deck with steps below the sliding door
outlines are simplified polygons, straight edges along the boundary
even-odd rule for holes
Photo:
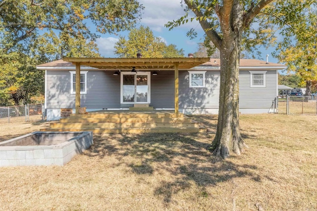
[[[183,114],[171,112],[106,111],[71,114],[41,131],[93,131],[95,133],[201,132],[206,128]]]

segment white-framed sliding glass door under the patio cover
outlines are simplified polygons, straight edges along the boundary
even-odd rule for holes
[[[150,103],[149,72],[121,72],[121,103]]]

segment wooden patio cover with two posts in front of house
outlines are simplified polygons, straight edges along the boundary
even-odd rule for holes
[[[175,113],[178,113],[178,71],[190,68],[210,61],[210,58],[70,58],[64,57],[64,61],[76,66],[76,114],[80,107],[80,66],[89,66],[102,70],[174,70],[175,76]]]

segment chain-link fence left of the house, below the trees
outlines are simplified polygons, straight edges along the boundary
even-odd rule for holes
[[[42,104],[0,107],[0,123],[43,120],[43,114]]]

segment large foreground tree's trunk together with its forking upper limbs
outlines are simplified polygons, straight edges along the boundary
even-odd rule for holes
[[[184,0],[198,17],[206,35],[220,50],[220,94],[217,132],[211,143],[215,155],[226,158],[230,153],[240,155],[246,147],[239,125],[239,63],[242,34],[255,16],[273,0],[259,0],[256,4],[241,0],[221,0],[215,3],[221,36],[202,17],[197,1]],[[245,7],[248,7],[245,10]]]

